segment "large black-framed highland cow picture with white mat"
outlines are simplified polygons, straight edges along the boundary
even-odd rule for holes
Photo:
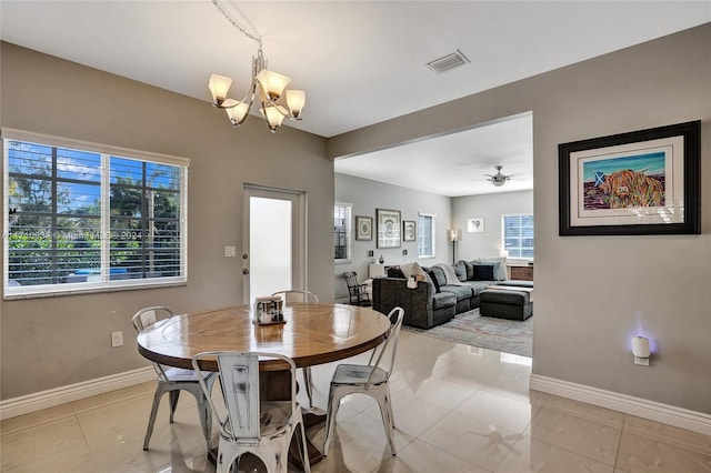
[[[700,120],[562,143],[558,158],[561,236],[701,233]]]

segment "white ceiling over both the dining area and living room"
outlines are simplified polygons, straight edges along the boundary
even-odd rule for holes
[[[269,68],[306,90],[303,120],[287,124],[327,138],[711,21],[711,0],[219,1],[262,37]],[[233,78],[230,95],[242,98],[257,52],[211,0],[0,0],[0,38],[206,107],[211,73]],[[457,49],[471,63],[441,74],[425,66]],[[498,131],[508,139],[497,139]],[[504,173],[523,174],[498,189],[513,190],[531,181],[530,147],[523,119],[342,160],[336,169],[388,180],[390,168],[399,185],[461,195],[491,190],[471,180],[503,164]],[[403,153],[408,163],[421,162],[385,164]],[[374,161],[380,169],[368,174]],[[402,177],[404,169],[419,175]]]

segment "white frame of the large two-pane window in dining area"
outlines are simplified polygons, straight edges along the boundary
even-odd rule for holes
[[[80,151],[100,155],[100,180],[101,197],[100,199],[100,274],[98,280],[82,281],[82,282],[53,282],[50,284],[37,284],[37,285],[10,285],[10,252],[9,252],[9,232],[4,230],[2,234],[3,244],[3,299],[30,299],[30,298],[44,298],[57,295],[71,295],[77,293],[91,293],[91,292],[109,292],[109,291],[124,291],[132,289],[147,289],[156,286],[172,286],[184,285],[188,282],[188,168],[190,160],[187,158],[172,157],[167,154],[159,154],[146,151],[131,150],[120,147],[112,147],[92,142],[86,142],[80,140],[66,139],[60,137],[53,137],[42,133],[34,133],[24,130],[17,130],[3,127],[1,130],[2,139],[2,162],[3,162],[3,225],[4,229],[10,227],[10,169],[9,169],[9,143],[11,141],[27,142],[37,144],[40,147],[51,147],[61,150]],[[111,279],[111,260],[110,260],[110,198],[109,198],[109,173],[110,169],[106,165],[110,158],[120,160],[131,160],[143,163],[153,164],[168,164],[178,168],[177,175],[179,179],[179,213],[178,234],[180,238],[178,244],[178,275],[159,276],[159,278],[138,278],[138,279]],[[54,178],[52,178],[54,179]],[[146,188],[146,183],[142,184]],[[54,195],[52,195],[52,199]],[[53,200],[56,202],[56,200]],[[53,215],[58,213],[52,212]],[[89,278],[87,278],[89,280]]]

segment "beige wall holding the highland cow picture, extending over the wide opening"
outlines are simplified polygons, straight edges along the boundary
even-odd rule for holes
[[[711,413],[711,23],[329,140],[329,155],[533,112],[533,373]],[[558,144],[702,120],[702,234],[558,235]],[[644,330],[659,349],[632,364]]]

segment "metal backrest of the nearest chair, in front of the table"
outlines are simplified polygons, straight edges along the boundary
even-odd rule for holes
[[[257,352],[203,352],[198,353],[192,359],[192,368],[200,370],[200,361],[204,359],[217,359],[220,370],[220,385],[222,386],[222,396],[227,407],[227,414],[223,419],[218,419],[222,431],[231,440],[242,444],[257,444],[261,437],[261,413],[259,399],[259,358],[281,359],[289,365],[291,372],[291,413],[297,409],[297,365],[293,360],[279,353],[257,353]],[[217,410],[208,385],[199,380],[208,401],[212,406],[212,412]],[[286,423],[278,430],[281,432],[289,429]]]

